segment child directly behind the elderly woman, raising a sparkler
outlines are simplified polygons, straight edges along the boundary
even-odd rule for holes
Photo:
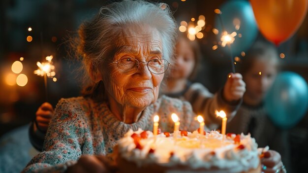
[[[176,44],[175,61],[171,74],[166,76],[161,92],[169,97],[188,101],[196,114],[205,116],[205,122],[211,129],[217,129],[221,123],[216,118],[216,110],[224,110],[229,118],[233,117],[242,102],[245,83],[239,73],[230,73],[223,89],[215,95],[200,83],[191,83],[197,73],[201,53],[198,44],[179,37]]]

